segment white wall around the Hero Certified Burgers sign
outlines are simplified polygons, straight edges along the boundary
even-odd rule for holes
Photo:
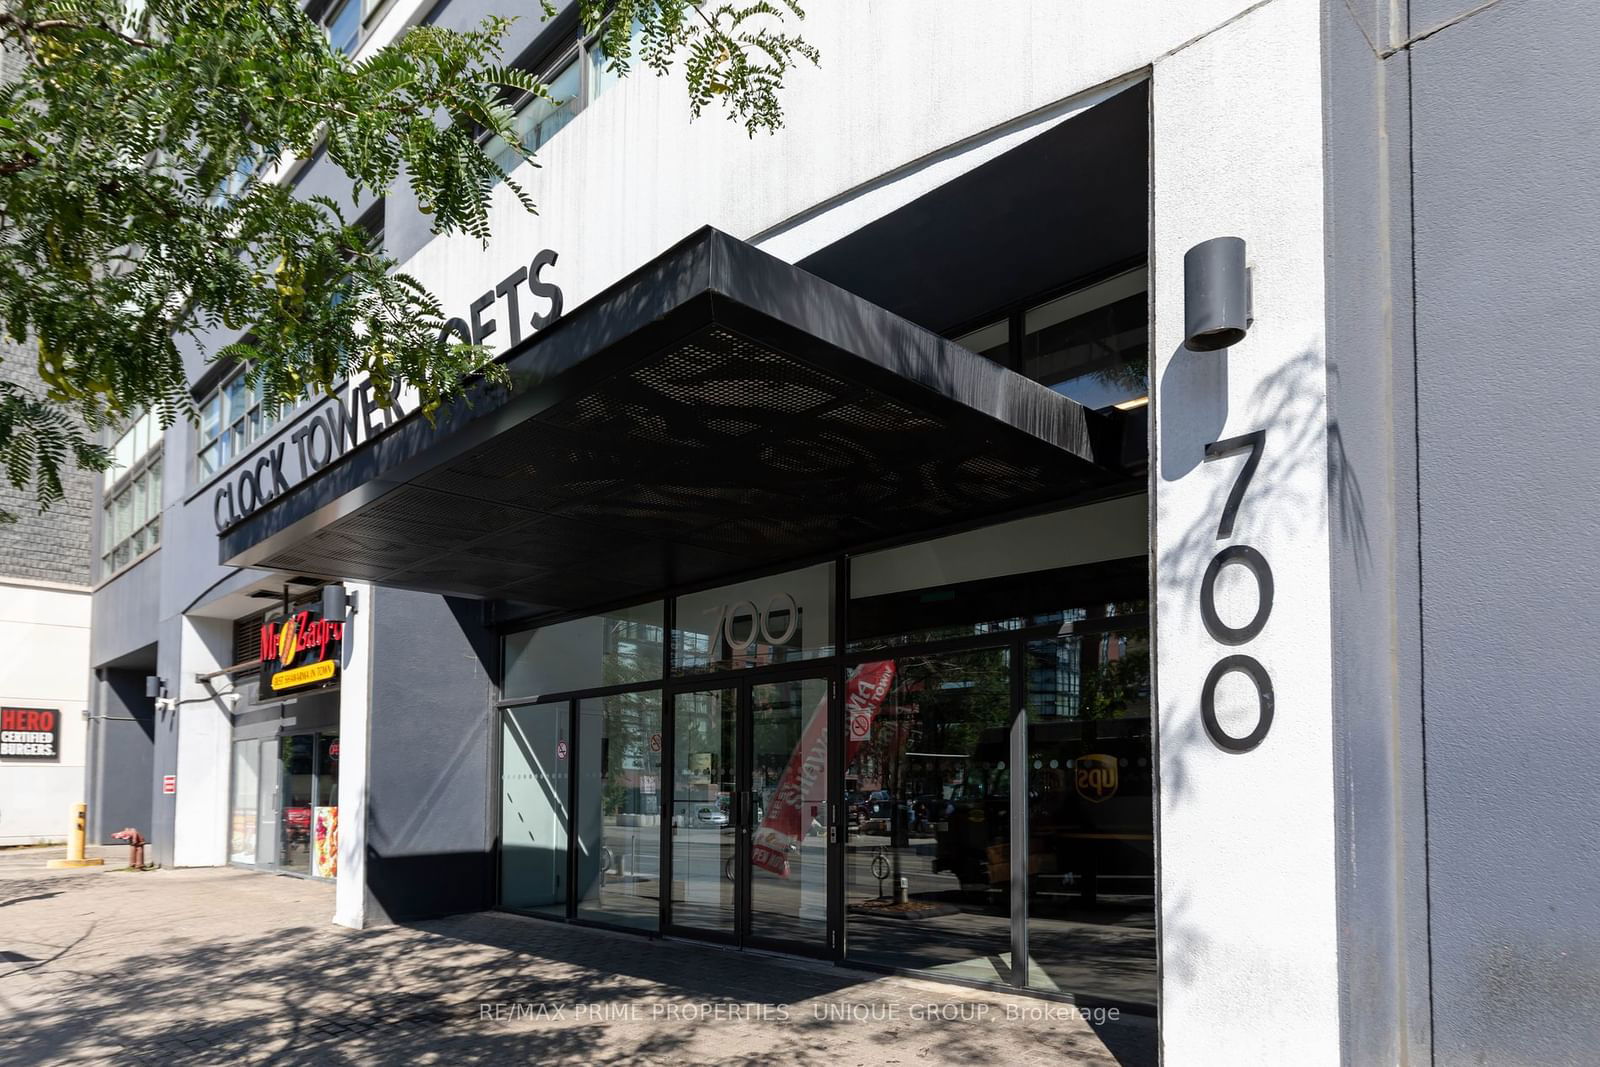
[[[66,840],[83,800],[90,590],[0,579],[0,704],[61,713],[61,760],[0,760],[0,845]]]

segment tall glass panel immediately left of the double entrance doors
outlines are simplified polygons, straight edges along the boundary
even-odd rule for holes
[[[656,929],[661,913],[661,694],[578,704],[578,913]]]

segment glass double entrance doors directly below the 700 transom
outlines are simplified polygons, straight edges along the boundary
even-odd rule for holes
[[[829,949],[829,683],[741,680],[672,697],[672,926]]]

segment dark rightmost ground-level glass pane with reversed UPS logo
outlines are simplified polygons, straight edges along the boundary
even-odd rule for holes
[[[1027,745],[1029,985],[1154,1005],[1149,630],[1030,643]]]

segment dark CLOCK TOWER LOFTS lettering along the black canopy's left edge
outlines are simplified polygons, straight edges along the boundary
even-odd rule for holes
[[[499,334],[501,306],[506,309],[504,334],[509,344],[518,344],[525,331],[549,326],[562,315],[562,290],[542,280],[539,272],[555,266],[555,261],[557,254],[546,248],[526,267],[517,267],[499,285],[472,301],[466,317],[446,322],[440,342],[454,338],[466,344],[483,344]],[[531,315],[530,307],[536,309]],[[294,429],[280,434],[222,480],[211,498],[216,528],[227,530],[346,451],[392,429],[405,418],[410,403],[413,402],[398,397],[384,403],[374,395],[371,382],[352,382],[342,395],[323,403],[310,418],[299,419]]]

